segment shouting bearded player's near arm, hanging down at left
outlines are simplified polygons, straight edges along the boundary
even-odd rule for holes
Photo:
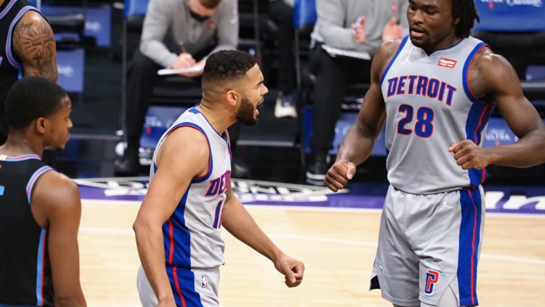
[[[160,304],[174,304],[161,227],[176,210],[191,180],[206,173],[209,155],[207,141],[198,130],[181,127],[172,131],[158,151],[158,169],[134,221],[142,268]]]

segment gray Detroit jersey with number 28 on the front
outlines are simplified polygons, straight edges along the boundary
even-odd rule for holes
[[[467,37],[427,55],[405,37],[380,78],[386,103],[388,180],[411,194],[478,186],[485,169],[464,170],[448,151],[452,142],[482,145],[493,105],[474,97],[468,69],[486,47]]]

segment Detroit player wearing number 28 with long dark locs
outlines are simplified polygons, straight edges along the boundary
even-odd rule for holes
[[[545,161],[545,126],[510,64],[470,37],[473,0],[409,0],[410,34],[388,41],[326,185],[337,192],[386,127],[388,180],[371,289],[394,306],[477,306],[487,165]],[[497,106],[519,140],[483,148]]]

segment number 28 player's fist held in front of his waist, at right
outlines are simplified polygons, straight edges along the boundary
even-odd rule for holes
[[[490,164],[488,151],[471,140],[452,143],[448,151],[454,153],[456,163],[463,169],[483,169]]]

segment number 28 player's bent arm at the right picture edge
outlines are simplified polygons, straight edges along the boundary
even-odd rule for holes
[[[483,48],[468,75],[472,93],[479,100],[496,104],[519,141],[482,148],[471,141],[455,143],[450,151],[463,169],[490,164],[531,167],[545,162],[545,125],[531,102],[524,97],[515,70],[501,55]]]

